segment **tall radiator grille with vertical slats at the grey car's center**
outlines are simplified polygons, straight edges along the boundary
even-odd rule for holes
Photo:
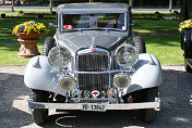
[[[82,52],[82,54],[81,54]],[[105,72],[109,69],[110,55],[107,50],[96,48],[94,52],[88,49],[77,53],[79,72]],[[109,74],[79,74],[79,89],[81,90],[107,90],[109,88]]]

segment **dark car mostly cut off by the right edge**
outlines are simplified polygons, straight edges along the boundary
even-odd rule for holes
[[[181,22],[192,18],[192,1],[183,0],[181,7]],[[184,68],[192,73],[192,28],[183,28],[181,34],[181,49],[184,56]]]

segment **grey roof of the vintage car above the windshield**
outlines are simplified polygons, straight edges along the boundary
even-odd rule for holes
[[[64,12],[81,12],[81,11],[128,11],[127,3],[70,3],[58,7],[57,12],[63,10]]]

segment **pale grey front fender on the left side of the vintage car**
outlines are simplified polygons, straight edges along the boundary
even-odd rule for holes
[[[29,60],[25,75],[24,82],[28,88],[51,91],[65,95],[57,86],[58,77],[52,73],[52,67],[45,55],[34,56]]]

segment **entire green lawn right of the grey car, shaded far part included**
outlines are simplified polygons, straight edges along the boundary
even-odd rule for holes
[[[146,35],[142,34],[141,36],[145,40],[147,53],[155,54],[163,65],[183,64],[180,35],[176,35],[179,25],[178,21],[137,20],[133,22],[140,23],[139,27],[133,27],[135,33],[146,33]],[[153,31],[157,31],[157,35],[151,34]]]

